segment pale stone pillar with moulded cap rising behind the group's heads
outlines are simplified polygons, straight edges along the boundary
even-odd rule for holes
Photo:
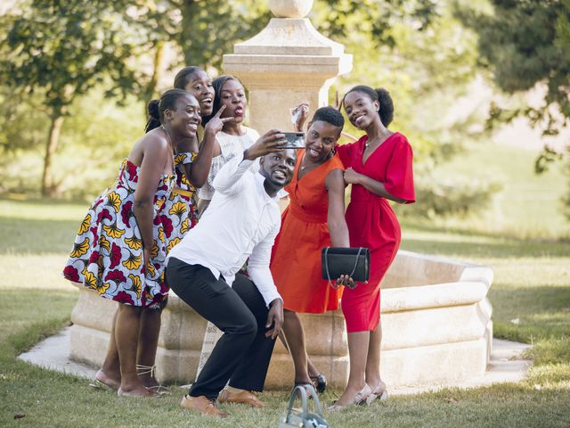
[[[327,105],[330,85],[352,70],[352,55],[306,18],[273,18],[224,55],[222,68],[248,89],[249,126],[264,134],[292,129],[289,109],[298,103],[311,111]]]

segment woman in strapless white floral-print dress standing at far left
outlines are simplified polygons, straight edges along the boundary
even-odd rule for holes
[[[115,184],[87,212],[63,271],[70,281],[120,303],[106,358],[116,358],[118,351],[120,380],[98,372],[118,395],[152,395],[136,372],[137,351],[145,341],[142,319],[166,303],[164,204],[174,185],[173,152],[175,144],[195,135],[200,123],[198,101],[180,89],[149,104],[149,112],[155,124],[150,120]]]

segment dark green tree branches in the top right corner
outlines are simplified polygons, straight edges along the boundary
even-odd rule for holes
[[[541,106],[504,108],[493,103],[489,126],[524,116],[545,136],[558,135],[570,124],[570,0],[489,0],[490,8],[474,10],[459,3],[457,16],[479,37],[480,66],[507,94],[544,88]],[[566,152],[566,153],[565,153]],[[538,173],[567,158],[566,149],[543,148],[535,162]],[[570,175],[570,165],[566,171]],[[570,219],[570,191],[566,197]]]

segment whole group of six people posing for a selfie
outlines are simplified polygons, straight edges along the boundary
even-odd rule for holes
[[[94,382],[122,396],[164,391],[154,366],[171,288],[224,333],[181,407],[221,417],[227,413],[216,403],[263,407],[254,392],[263,391],[277,337],[293,359],[293,383],[324,391],[298,314],[339,305],[350,369],[346,390],[329,408],[385,398],[380,282],[400,243],[388,201],[415,199],[411,145],[387,128],[390,95],[355,86],[340,105],[314,111],[305,149],[295,150],[282,148],[279,129],[259,136],[243,125],[247,99],[237,78],[211,81],[186,67],[174,86],[149,104],[146,134],[88,210],[63,271],[118,301]],[[342,108],[365,132],[354,143],[338,144]],[[308,106],[298,110],[302,131]],[[289,205],[280,213],[283,189]],[[370,280],[355,284],[349,272],[323,280],[327,246],[370,249]]]

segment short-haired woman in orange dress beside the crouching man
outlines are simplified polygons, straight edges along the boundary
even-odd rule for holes
[[[282,331],[295,365],[296,384],[311,383],[305,333],[297,313],[338,309],[342,290],[322,280],[321,250],[349,246],[343,167],[334,152],[344,122],[342,114],[331,107],[314,112],[305,150],[298,153],[293,179],[285,188],[290,202],[273,245],[271,271],[283,298]]]

